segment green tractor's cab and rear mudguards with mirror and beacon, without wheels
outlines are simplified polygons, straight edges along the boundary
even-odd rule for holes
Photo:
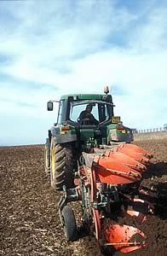
[[[133,140],[130,128],[125,127],[119,116],[114,116],[112,95],[106,87],[104,94],[76,94],[60,97],[57,123],[49,130],[49,137],[57,143],[76,142],[77,148],[86,145],[110,144]],[[48,110],[53,110],[48,102]]]

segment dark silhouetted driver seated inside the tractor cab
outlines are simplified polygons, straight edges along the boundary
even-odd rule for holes
[[[86,106],[78,117],[78,122],[80,125],[98,125],[99,121],[95,119],[94,115],[91,113],[93,106],[91,104]]]

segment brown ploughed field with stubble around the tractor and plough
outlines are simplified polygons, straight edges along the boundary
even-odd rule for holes
[[[167,140],[136,144],[154,155],[142,183],[157,189],[158,206],[155,214],[138,226],[147,236],[147,247],[126,255],[164,256],[167,255]],[[0,148],[0,255],[108,255],[101,251],[94,236],[85,236],[82,228],[78,230],[78,241],[66,242],[57,207],[60,193],[50,187],[43,170],[43,146]],[[81,207],[74,203],[73,208],[79,226]]]

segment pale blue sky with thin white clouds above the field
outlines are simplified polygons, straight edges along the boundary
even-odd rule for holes
[[[166,1],[1,1],[0,145],[44,143],[46,102],[106,84],[124,125],[163,126],[166,69]]]

